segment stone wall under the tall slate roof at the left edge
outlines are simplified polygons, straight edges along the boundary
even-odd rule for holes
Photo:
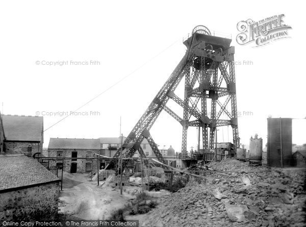
[[[29,152],[28,147],[32,147]],[[5,141],[4,152],[8,155],[25,154],[27,156],[33,156],[35,153],[40,153],[41,147],[39,142],[18,142],[18,141]]]

